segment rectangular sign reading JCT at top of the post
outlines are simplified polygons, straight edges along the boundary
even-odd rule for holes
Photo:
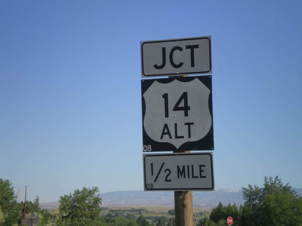
[[[141,41],[142,77],[212,74],[211,36]]]

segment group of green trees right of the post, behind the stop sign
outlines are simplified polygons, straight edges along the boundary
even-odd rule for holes
[[[283,185],[277,177],[265,177],[264,187],[243,188],[244,205],[223,206],[221,202],[204,215],[198,226],[223,226],[233,218],[232,226],[302,226],[302,197]]]

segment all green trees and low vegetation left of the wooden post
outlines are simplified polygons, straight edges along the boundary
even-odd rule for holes
[[[39,197],[26,201],[27,217],[34,213],[39,226],[174,226],[175,217],[156,217],[150,223],[143,215],[146,209],[110,210],[100,216],[101,198],[98,187],[75,190],[73,194],[60,196],[59,207],[53,211],[40,209]],[[24,202],[17,202],[18,195],[9,180],[0,178],[0,226],[24,225]],[[137,212],[139,217],[133,214]],[[127,215],[125,215],[125,213]]]

